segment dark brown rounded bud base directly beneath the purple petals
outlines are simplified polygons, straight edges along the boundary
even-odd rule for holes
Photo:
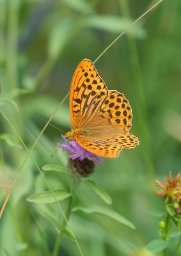
[[[94,172],[95,163],[87,158],[80,160],[79,158],[68,159],[68,171],[77,178],[89,177]]]

